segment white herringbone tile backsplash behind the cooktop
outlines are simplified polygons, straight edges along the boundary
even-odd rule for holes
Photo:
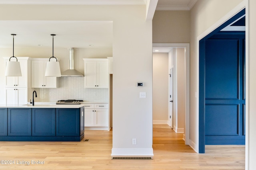
[[[84,102],[108,102],[107,88],[84,88],[84,77],[59,77],[58,88],[35,89],[40,102],[57,100],[84,100]]]

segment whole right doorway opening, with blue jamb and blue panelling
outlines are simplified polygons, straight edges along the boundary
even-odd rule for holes
[[[242,21],[242,25],[241,25],[241,21]],[[230,29],[230,27],[235,28],[237,26],[244,27],[244,30]],[[246,86],[245,84],[246,56],[245,56],[245,39],[239,38],[239,36],[241,36],[242,34],[243,36],[245,35],[245,9],[234,14],[232,18],[222,23],[222,25],[214,29],[212,32],[204,36],[199,41],[199,153],[205,152],[205,145],[207,143],[210,145],[213,145],[213,144],[217,145],[216,142],[218,142],[218,145],[234,145],[234,144],[241,145],[242,143],[244,143],[242,141],[244,141],[245,139],[244,135],[245,135],[246,111],[245,111],[245,95],[244,94],[245,94],[245,86]],[[233,38],[229,38],[230,35],[231,36],[234,35],[233,38],[234,37],[238,37],[238,38],[235,38],[236,40],[234,40]],[[218,43],[216,43],[217,41]],[[230,42],[227,42],[227,41],[230,41]],[[233,42],[231,43],[231,41]],[[223,45],[221,45],[221,43]],[[230,60],[230,57],[226,58],[227,66],[223,66],[224,61],[211,61],[211,58],[209,58],[209,56],[211,55],[211,53],[209,53],[210,51],[209,47],[214,46],[218,48],[218,47],[224,47],[224,45],[233,45],[233,47],[227,46],[225,49],[218,50],[218,53],[223,51],[218,55],[227,56],[227,54],[231,55],[232,53],[234,60],[228,61]],[[236,51],[236,49],[238,51]],[[223,59],[224,58],[225,57],[223,57]],[[216,66],[213,66],[212,63],[214,62],[216,64],[218,64],[218,62],[222,62],[221,63],[222,65],[218,64]],[[208,69],[210,67],[208,67],[207,65],[210,67],[212,66],[213,69],[218,67],[219,68],[218,70],[221,70],[220,68],[225,68],[225,69],[228,68],[229,70],[223,71],[223,73],[226,74],[226,72],[230,72],[230,73],[232,72],[233,78],[232,78],[232,74],[229,74],[227,76],[228,79],[226,79],[225,77],[222,77],[221,79],[224,81],[220,81],[218,80],[218,78],[224,75],[224,74],[220,74],[220,76],[218,76],[214,80],[214,82],[217,82],[217,81],[222,83],[226,82],[227,84],[232,84],[232,85],[228,85],[228,89],[226,90],[224,88],[219,88],[218,93],[214,92],[214,90],[216,90],[218,86],[211,87],[211,85],[214,83],[210,83],[212,82],[212,80],[207,79],[206,76],[207,74],[209,75],[211,70],[213,69]],[[229,81],[227,82],[225,79]],[[224,87],[223,84],[222,84],[222,87]],[[212,88],[213,90],[211,91],[207,88]],[[222,91],[225,91],[225,93],[223,93]],[[211,92],[214,92],[214,93],[211,94]],[[227,101],[227,102],[223,103],[223,101]],[[209,113],[208,111],[211,111],[211,113],[215,111],[215,115],[217,116],[219,115],[218,116],[219,120],[221,119],[223,122],[229,122],[229,123],[221,123],[220,121],[218,122],[218,124],[215,123],[215,125],[217,125],[218,128],[220,127],[220,129],[222,130],[217,130],[217,131],[210,130],[208,126],[212,124],[212,120],[216,119],[216,117],[214,117],[211,114],[208,114]],[[222,124],[224,125],[223,128],[221,128]]]

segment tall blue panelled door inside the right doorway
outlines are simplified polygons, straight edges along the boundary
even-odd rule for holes
[[[205,41],[206,145],[245,144],[244,39],[234,37]]]

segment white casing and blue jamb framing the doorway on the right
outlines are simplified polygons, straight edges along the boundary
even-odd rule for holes
[[[221,18],[218,22],[216,22],[212,27],[204,31],[201,35],[197,37],[197,113],[198,113],[198,153],[205,153],[205,101],[204,101],[204,43],[203,39],[206,39],[207,37],[210,37],[214,33],[218,32],[222,28],[226,27],[230,23],[232,23],[232,20],[230,20],[232,17],[236,16],[239,12],[241,12],[244,8],[246,8],[245,2],[242,2],[236,8],[234,8],[232,11],[230,11],[228,14],[226,14],[223,18]],[[246,14],[247,15],[247,14]],[[246,17],[246,32],[248,31],[248,17]],[[247,35],[248,33],[246,33]],[[246,36],[246,44],[248,44],[248,37]],[[248,117],[248,45],[246,45],[246,119]],[[201,77],[201,78],[200,78]],[[247,129],[247,128],[246,128]],[[247,135],[246,135],[247,136]]]

